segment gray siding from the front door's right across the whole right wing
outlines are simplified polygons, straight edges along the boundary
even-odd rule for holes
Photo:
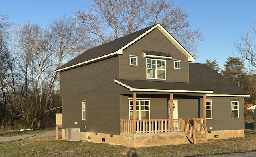
[[[187,120],[203,118],[203,98],[187,97],[178,100],[178,118]],[[237,130],[244,129],[244,99],[237,97],[206,97],[212,100],[212,119],[207,119],[208,130]],[[232,118],[231,100],[239,100],[239,118]]]

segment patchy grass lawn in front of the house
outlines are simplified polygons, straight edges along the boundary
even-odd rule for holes
[[[48,130],[49,131],[49,130]],[[54,130],[52,130],[54,131]],[[29,132],[29,131],[28,131]],[[32,132],[32,131],[31,131]],[[47,131],[46,131],[47,132]],[[0,132],[0,137],[3,133]],[[0,156],[83,157],[194,157],[256,153],[256,130],[245,130],[245,138],[209,140],[206,144],[130,148],[90,142],[66,142],[55,137],[0,142]]]

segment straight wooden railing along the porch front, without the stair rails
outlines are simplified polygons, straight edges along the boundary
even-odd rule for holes
[[[122,133],[134,133],[133,120],[120,120]],[[183,119],[136,120],[136,133],[164,133],[183,131]]]

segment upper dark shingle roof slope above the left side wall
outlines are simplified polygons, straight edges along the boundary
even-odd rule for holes
[[[157,25],[157,24],[155,24],[155,25]],[[58,69],[70,67],[72,65],[76,65],[76,64],[79,64],[79,63],[82,63],[85,61],[89,61],[91,59],[95,59],[95,58],[102,57],[104,55],[108,55],[110,53],[116,52],[117,50],[121,49],[122,47],[124,47],[125,45],[127,45],[128,43],[130,43],[131,41],[133,41],[134,39],[136,39],[137,37],[139,37],[146,31],[148,31],[155,25],[146,27],[144,29],[141,29],[140,31],[136,31],[136,32],[126,35],[124,37],[120,37],[116,40],[110,41],[108,43],[104,43],[104,44],[94,47],[92,49],[88,49],[87,51],[85,51],[81,55],[77,56],[76,58],[72,59],[68,63],[62,65]],[[56,69],[56,70],[58,70],[58,69]]]

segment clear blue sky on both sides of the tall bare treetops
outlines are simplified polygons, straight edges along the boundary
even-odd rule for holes
[[[199,43],[199,57],[195,63],[206,59],[216,61],[220,68],[227,57],[235,57],[234,43],[239,34],[256,22],[255,0],[173,0],[174,5],[182,8],[190,16],[192,29],[200,29],[204,41]],[[3,0],[0,14],[7,14],[9,22],[16,24],[31,21],[46,26],[51,19],[64,14],[73,16],[76,10],[85,10],[84,5],[92,0]]]

